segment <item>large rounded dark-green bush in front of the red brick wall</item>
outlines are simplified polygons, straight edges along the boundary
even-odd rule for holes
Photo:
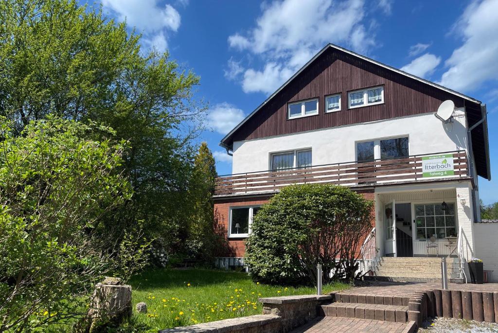
[[[245,263],[256,281],[312,284],[316,265],[332,271],[323,281],[353,279],[373,202],[342,186],[283,188],[258,211],[246,242]]]

